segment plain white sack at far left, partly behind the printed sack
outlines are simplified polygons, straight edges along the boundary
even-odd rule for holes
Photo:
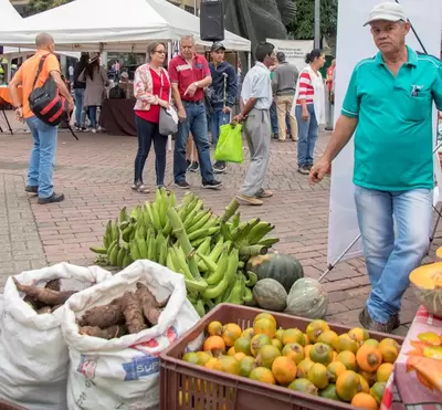
[[[112,273],[99,266],[59,263],[14,277],[22,285],[41,287],[60,278],[62,290],[81,293],[112,277]],[[30,410],[66,410],[69,353],[61,328],[64,306],[39,315],[23,301],[12,277],[1,299],[0,399]]]

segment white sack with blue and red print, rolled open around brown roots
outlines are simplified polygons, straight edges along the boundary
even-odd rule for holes
[[[158,301],[170,296],[158,325],[110,340],[78,334],[85,311],[108,304],[145,284]],[[159,406],[159,355],[191,328],[200,316],[187,299],[183,275],[140,260],[110,280],[71,296],[64,309],[63,335],[70,351],[70,410],[151,410]],[[202,338],[194,340],[194,350]]]

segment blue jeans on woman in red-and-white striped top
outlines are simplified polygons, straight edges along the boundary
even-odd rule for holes
[[[313,104],[307,104],[308,118],[303,119],[303,107],[296,106],[296,120],[297,120],[297,166],[308,167],[313,165],[313,153],[318,135],[318,122],[315,115],[315,107]]]

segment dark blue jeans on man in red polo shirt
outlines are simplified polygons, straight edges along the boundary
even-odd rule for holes
[[[206,117],[206,107],[201,103],[189,103],[183,101],[182,105],[186,109],[186,120],[180,122],[178,132],[175,136],[173,151],[173,179],[175,182],[186,180],[186,143],[189,133],[192,133],[194,144],[198,150],[198,159],[200,161],[201,177],[203,182],[213,180],[212,164],[210,161],[210,146],[208,138],[208,126]]]

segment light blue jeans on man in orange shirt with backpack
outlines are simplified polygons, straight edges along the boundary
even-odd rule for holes
[[[40,198],[50,198],[54,192],[57,127],[51,127],[36,117],[27,118],[27,124],[33,139],[27,185],[39,187]]]

